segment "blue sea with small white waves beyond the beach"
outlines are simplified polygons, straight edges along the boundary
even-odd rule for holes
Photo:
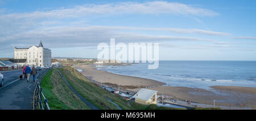
[[[171,87],[256,87],[256,61],[160,60],[159,67],[155,70],[148,70],[148,64],[150,63],[104,66],[98,70],[153,79]]]

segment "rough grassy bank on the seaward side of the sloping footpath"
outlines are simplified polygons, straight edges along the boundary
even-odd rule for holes
[[[90,103],[98,107],[99,109],[111,110],[117,109],[113,103],[106,100],[105,97],[110,98],[114,103],[117,103],[122,109],[134,109],[127,105],[127,101],[120,96],[110,93],[108,90],[102,89],[90,80],[86,79],[84,75],[78,72],[73,67],[59,68],[59,71],[65,79],[72,85]]]

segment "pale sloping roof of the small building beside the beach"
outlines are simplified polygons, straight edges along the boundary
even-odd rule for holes
[[[144,101],[150,100],[152,96],[154,96],[155,93],[158,91],[156,90],[150,90],[150,89],[141,89],[139,92],[137,92],[133,97],[138,98]]]

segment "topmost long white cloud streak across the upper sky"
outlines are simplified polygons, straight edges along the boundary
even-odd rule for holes
[[[204,8],[196,8],[190,5],[175,2],[152,1],[152,2],[118,2],[105,5],[86,4],[73,8],[61,8],[50,11],[35,11],[22,14],[2,15],[5,18],[77,18],[81,15],[95,14],[175,14],[195,16],[216,16],[217,12]]]

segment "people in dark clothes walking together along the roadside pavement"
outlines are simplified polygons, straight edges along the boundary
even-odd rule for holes
[[[36,74],[38,74],[35,66],[32,67],[32,69],[29,66],[25,66],[23,68],[23,75],[22,78],[23,80],[25,79],[25,77],[27,78],[27,81],[30,81],[30,75],[33,75],[33,81],[35,81],[35,76]]]

